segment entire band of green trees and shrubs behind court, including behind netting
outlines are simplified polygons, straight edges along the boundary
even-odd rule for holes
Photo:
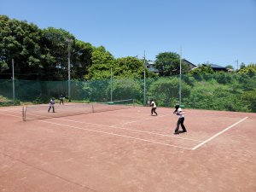
[[[60,94],[67,97],[67,39],[72,39],[69,49],[72,99],[110,101],[112,68],[113,100],[135,98],[143,103],[142,60],[131,56],[115,59],[103,46],[96,48],[79,41],[63,29],[39,29],[34,24],[11,20],[4,15],[0,15],[0,75],[6,80],[0,80],[0,96],[12,99],[10,79],[14,59],[17,101],[42,103]],[[173,107],[179,101],[179,78],[175,76],[179,74],[179,59],[179,55],[172,52],[156,56],[155,67],[162,78],[156,78],[145,68],[147,97],[154,98],[158,106]],[[182,70],[185,106],[255,112],[256,64],[242,64],[236,73],[215,73],[212,67],[202,64],[185,74],[188,66],[182,62]],[[167,77],[170,75],[173,76]],[[82,81],[84,79],[87,81]]]

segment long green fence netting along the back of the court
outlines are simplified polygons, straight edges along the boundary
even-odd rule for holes
[[[185,108],[256,112],[255,73],[183,75],[181,85],[181,104]],[[15,79],[15,100],[20,102],[46,103],[60,95],[67,101],[67,81]],[[12,80],[0,79],[0,96],[13,100]],[[179,102],[179,76],[146,79],[146,87],[144,79],[72,80],[70,96],[71,101],[79,102],[135,99],[142,105],[154,98],[159,107],[173,107]]]

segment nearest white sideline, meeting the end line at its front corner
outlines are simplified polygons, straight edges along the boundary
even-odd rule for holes
[[[41,122],[44,122],[44,123],[53,124],[53,125],[67,126],[67,127],[70,127],[70,128],[73,128],[73,129],[78,129],[78,130],[92,131],[92,132],[108,134],[108,135],[115,136],[115,137],[125,137],[125,138],[130,138],[130,139],[134,139],[134,140],[138,140],[138,141],[143,141],[143,142],[148,142],[148,143],[155,143],[155,144],[165,145],[165,146],[174,147],[174,148],[183,148],[183,147],[177,146],[177,145],[171,145],[171,144],[167,144],[167,143],[154,142],[154,141],[147,140],[147,139],[142,139],[142,138],[137,138],[137,137],[130,137],[130,136],[125,136],[125,135],[119,135],[119,134],[105,132],[105,131],[90,130],[90,129],[81,128],[81,127],[72,126],[72,125],[63,125],[63,124],[59,124],[59,123],[49,122],[49,121],[46,121],[46,120],[38,120],[38,121],[41,121]],[[191,148],[184,148],[184,149],[191,150]]]

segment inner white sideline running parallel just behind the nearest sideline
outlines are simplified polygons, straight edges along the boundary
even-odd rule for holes
[[[105,126],[105,127],[109,127],[109,128],[113,128],[113,129],[136,131],[136,132],[148,133],[148,134],[157,135],[157,136],[162,136],[162,137],[174,137],[174,138],[177,138],[177,139],[191,140],[191,141],[195,141],[195,142],[202,142],[201,140],[197,140],[197,139],[184,138],[184,137],[175,137],[175,136],[171,136],[171,135],[165,135],[165,134],[156,133],[156,132],[150,132],[150,131],[134,130],[134,129],[129,129],[129,128],[118,127],[117,125],[111,125],[111,126],[110,126],[110,125],[101,125],[101,124],[87,123],[87,122],[77,121],[77,120],[72,120],[72,119],[62,119],[62,118],[58,118],[58,119],[66,120],[66,121],[71,121],[71,122],[75,122],[75,123],[80,123],[80,124],[89,124],[89,125],[96,125],[96,126]]]

